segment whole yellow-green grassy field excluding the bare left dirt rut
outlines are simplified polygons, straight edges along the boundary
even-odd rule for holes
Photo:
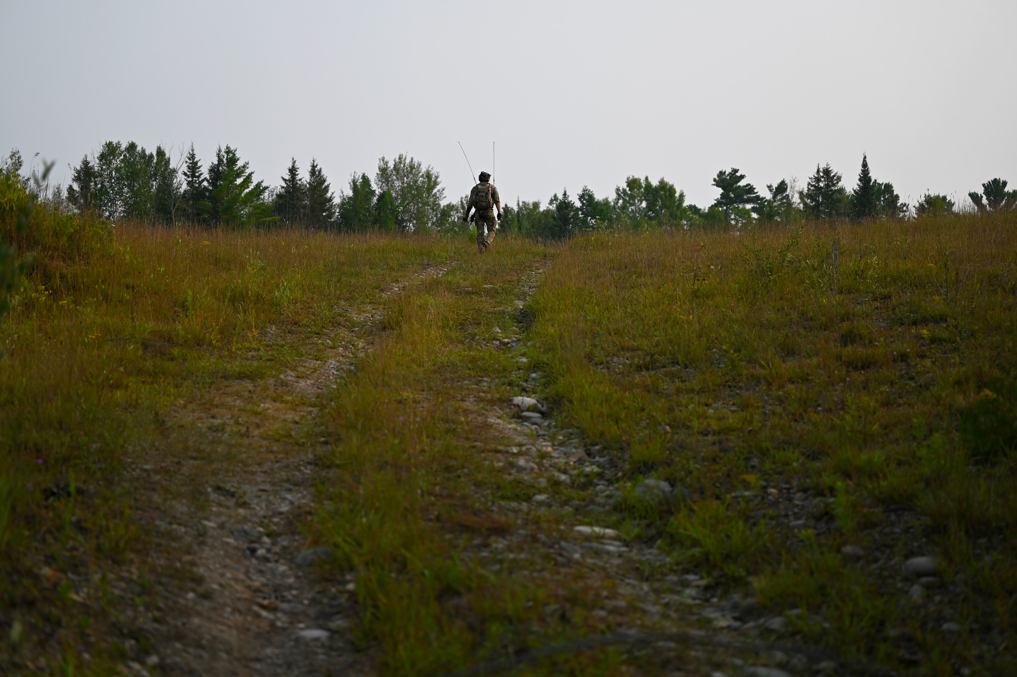
[[[1012,218],[502,238],[482,257],[465,238],[37,222],[25,246],[46,257],[0,324],[5,672],[120,669],[124,610],[187,576],[186,558],[157,570],[188,546],[151,514],[203,500],[129,472],[194,455],[167,412],[284,372],[367,304],[380,319],[320,404],[301,529],[335,553],[314,575],[351,591],[381,674],[624,627],[1014,669]],[[523,424],[519,394],[549,420]],[[564,543],[582,525],[618,546]],[[902,575],[916,556],[933,575]],[[734,599],[756,611],[704,616]],[[670,651],[527,669],[672,674]],[[674,651],[687,674],[737,669]]]

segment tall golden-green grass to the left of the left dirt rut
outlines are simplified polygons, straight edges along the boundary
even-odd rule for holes
[[[173,403],[285,368],[344,307],[451,252],[436,238],[114,228],[53,205],[19,246],[39,262],[0,324],[0,625],[22,628],[3,651],[71,663],[66,647],[112,639],[76,623],[65,574],[143,568],[139,512],[161,497],[123,471]],[[101,626],[113,612],[97,613]]]

